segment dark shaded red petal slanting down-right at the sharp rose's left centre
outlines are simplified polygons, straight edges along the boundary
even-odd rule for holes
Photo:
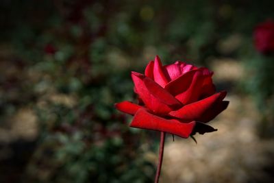
[[[169,106],[182,106],[182,103],[180,103],[173,95],[171,95],[168,91],[164,90],[159,84],[153,82],[149,77],[145,77],[144,79],[145,86],[147,86],[147,89],[149,92],[162,101],[162,103],[166,103],[166,105]]]

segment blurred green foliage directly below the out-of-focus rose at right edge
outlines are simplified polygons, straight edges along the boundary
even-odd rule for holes
[[[251,49],[252,50],[252,49]],[[260,136],[274,136],[274,56],[253,51],[245,58],[247,75],[245,87],[260,112]]]

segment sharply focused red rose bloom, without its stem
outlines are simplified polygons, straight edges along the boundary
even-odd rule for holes
[[[225,91],[216,93],[213,72],[207,68],[177,61],[162,66],[155,57],[145,75],[132,72],[139,103],[116,103],[121,112],[134,115],[131,127],[158,130],[188,138],[199,132],[216,131],[208,121],[225,110]]]

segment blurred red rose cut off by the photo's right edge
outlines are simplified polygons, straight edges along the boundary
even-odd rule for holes
[[[266,21],[254,29],[255,47],[261,53],[274,52],[274,22]]]

